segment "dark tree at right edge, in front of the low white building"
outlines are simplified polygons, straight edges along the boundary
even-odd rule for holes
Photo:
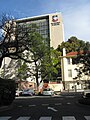
[[[76,64],[82,64],[79,69],[77,69],[78,75],[88,75],[90,77],[90,43],[86,42],[82,51],[78,50],[78,54],[74,59]]]

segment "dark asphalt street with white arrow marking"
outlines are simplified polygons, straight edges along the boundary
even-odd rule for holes
[[[90,106],[77,96],[17,97],[13,107],[0,112],[0,120],[90,120]]]

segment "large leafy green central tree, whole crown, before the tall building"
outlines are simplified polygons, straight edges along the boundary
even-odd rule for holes
[[[58,51],[50,48],[46,39],[43,39],[36,30],[30,32],[28,39],[29,50],[25,51],[22,55],[23,58],[27,60],[25,62],[28,64],[27,69],[29,75],[27,75],[27,78],[31,77],[35,79],[38,86],[40,78],[41,81],[45,79],[49,81],[52,80],[53,74],[57,73],[56,69],[60,67],[57,65],[59,55],[56,55]],[[22,66],[21,71],[23,72],[25,70]]]

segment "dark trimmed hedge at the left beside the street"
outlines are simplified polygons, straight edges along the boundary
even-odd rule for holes
[[[11,104],[15,99],[15,90],[15,81],[0,78],[0,105]]]

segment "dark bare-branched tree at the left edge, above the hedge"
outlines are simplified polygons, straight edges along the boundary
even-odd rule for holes
[[[14,19],[3,15],[0,19],[0,67],[4,57],[12,59],[23,59],[21,54],[28,49],[28,32],[29,29],[24,29],[17,25]]]

